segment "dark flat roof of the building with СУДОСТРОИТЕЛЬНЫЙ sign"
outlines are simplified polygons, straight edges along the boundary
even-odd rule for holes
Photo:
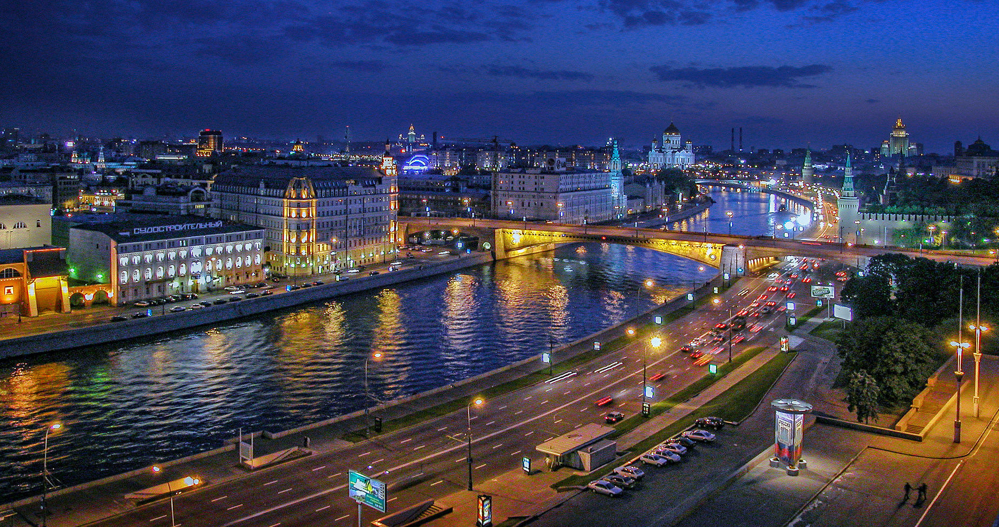
[[[117,216],[118,214],[114,214]],[[72,229],[101,232],[118,243],[145,242],[172,238],[188,238],[231,232],[261,231],[263,228],[244,223],[228,222],[204,216],[154,215],[112,222],[74,225]]]

